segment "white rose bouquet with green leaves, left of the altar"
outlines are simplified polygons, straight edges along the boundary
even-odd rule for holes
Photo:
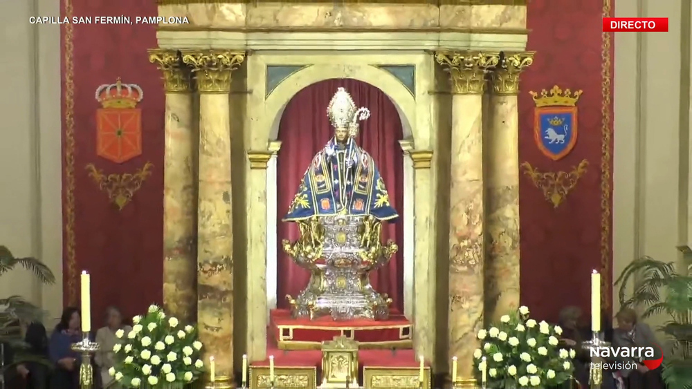
[[[126,388],[182,388],[203,371],[197,328],[181,325],[156,305],[132,318],[132,330],[118,330],[115,366],[109,374]]]

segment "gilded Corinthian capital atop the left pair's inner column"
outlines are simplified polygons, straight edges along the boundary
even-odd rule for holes
[[[200,93],[229,93],[230,76],[245,60],[245,53],[225,50],[183,51],[182,55]]]

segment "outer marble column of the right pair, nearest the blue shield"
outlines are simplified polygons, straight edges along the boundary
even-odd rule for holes
[[[486,290],[490,321],[519,306],[519,76],[534,53],[506,53],[491,73],[485,137]]]

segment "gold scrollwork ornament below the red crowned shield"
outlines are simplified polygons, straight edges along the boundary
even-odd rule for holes
[[[89,177],[98,185],[99,189],[105,191],[109,200],[118,207],[119,211],[127,205],[134,193],[142,187],[142,183],[152,175],[154,164],[147,162],[141,169],[134,173],[106,174],[97,169],[94,164],[87,164],[86,170]]]

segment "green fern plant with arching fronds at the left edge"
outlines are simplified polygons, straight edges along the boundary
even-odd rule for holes
[[[16,267],[24,267],[44,284],[55,283],[55,276],[51,269],[36,258],[17,258],[12,255],[10,249],[0,246],[0,276],[7,274]],[[10,345],[15,351],[13,363],[6,368],[26,361],[42,362],[43,360],[25,350],[28,344],[24,342],[21,325],[33,321],[42,321],[44,311],[30,303],[25,298],[17,295],[0,298],[0,343]],[[47,361],[46,361],[47,362]]]

